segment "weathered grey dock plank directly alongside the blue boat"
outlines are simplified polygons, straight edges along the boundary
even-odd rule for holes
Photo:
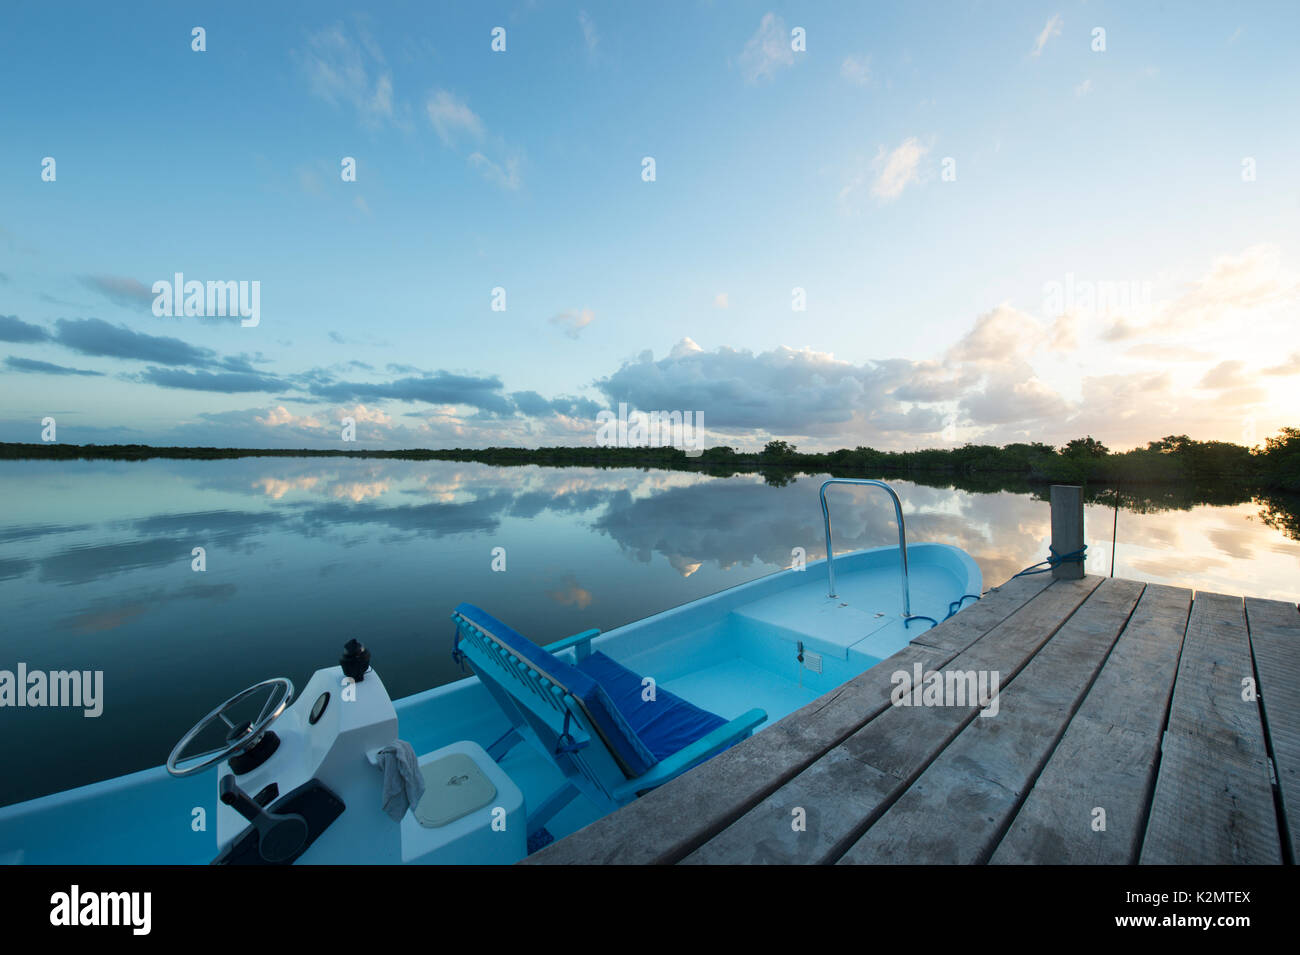
[[[976,643],[1006,620],[1023,613],[1037,594],[1048,592],[1050,581],[1046,577],[1009,581],[941,624],[936,629],[946,630],[949,648],[914,642],[774,726],[524,861],[655,864],[681,860],[888,708],[889,673],[910,670],[915,663],[924,669],[944,667],[958,652],[952,647]]]

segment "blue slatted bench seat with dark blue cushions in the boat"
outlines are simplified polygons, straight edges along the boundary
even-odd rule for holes
[[[642,699],[640,674],[590,652],[598,630],[541,647],[473,604],[460,604],[451,618],[454,654],[471,661],[510,720],[507,738],[526,739],[606,809],[715,756],[767,719],[750,709],[728,721],[658,686]],[[556,655],[568,650],[573,663]],[[504,751],[494,745],[489,752],[500,759]],[[547,800],[546,812],[555,811]]]

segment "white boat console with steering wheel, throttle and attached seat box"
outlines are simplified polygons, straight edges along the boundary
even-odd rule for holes
[[[256,719],[237,717],[263,696]],[[225,746],[185,755],[213,729],[225,730]],[[399,755],[385,750],[398,742],[393,700],[369,652],[351,641],[339,665],[316,670],[296,700],[285,678],[231,696],[181,738],[166,768],[191,776],[217,767],[213,864],[524,858],[523,793],[472,741],[417,758],[424,795],[394,820],[385,811],[385,763]]]

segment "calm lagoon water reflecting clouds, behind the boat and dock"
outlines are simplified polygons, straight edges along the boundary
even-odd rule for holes
[[[273,676],[302,686],[351,637],[394,698],[456,680],[462,600],[546,642],[772,573],[794,547],[824,556],[819,483],[342,459],[0,463],[0,669],[104,672],[98,719],[0,708],[0,804],[157,765],[226,696]],[[1048,505],[1027,494],[892,483],[909,539],[965,548],[985,589],[1046,554]],[[897,539],[883,495],[833,494],[837,547]],[[1121,509],[1115,576],[1295,600],[1300,543],[1260,511]],[[1092,573],[1110,570],[1112,520],[1088,508]]]

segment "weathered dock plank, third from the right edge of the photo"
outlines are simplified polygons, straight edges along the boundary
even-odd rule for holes
[[[1138,861],[1191,604],[1190,590],[1147,585],[992,864]]]

